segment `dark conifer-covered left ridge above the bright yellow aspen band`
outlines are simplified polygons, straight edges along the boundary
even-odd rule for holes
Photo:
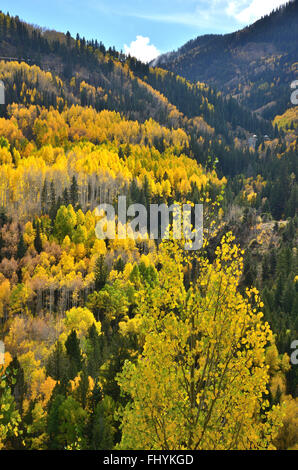
[[[79,34],[72,38],[68,32],[42,30],[3,13],[0,57],[7,105],[53,106],[59,111],[81,105],[116,111],[139,122],[151,118],[187,132],[191,145],[185,151],[199,163],[212,166],[219,155],[222,175],[241,172],[251,163],[251,133],[262,139],[278,132],[269,121],[209,85],[192,84]],[[5,109],[1,113],[5,116]],[[162,142],[158,146],[163,148]]]

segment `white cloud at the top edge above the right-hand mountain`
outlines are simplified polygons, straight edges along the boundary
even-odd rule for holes
[[[249,24],[285,3],[286,0],[232,0],[228,2],[226,13],[239,23]]]

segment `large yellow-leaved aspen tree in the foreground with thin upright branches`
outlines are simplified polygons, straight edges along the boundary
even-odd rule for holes
[[[118,377],[131,398],[121,449],[274,449],[282,419],[269,407],[265,348],[273,340],[256,289],[238,291],[243,263],[226,235],[184,286],[186,256],[161,245],[158,282],[138,298],[144,347]]]

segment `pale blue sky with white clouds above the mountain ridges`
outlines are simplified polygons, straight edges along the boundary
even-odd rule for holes
[[[253,23],[285,0],[1,0],[0,9],[48,29],[70,31],[144,62],[207,33]]]

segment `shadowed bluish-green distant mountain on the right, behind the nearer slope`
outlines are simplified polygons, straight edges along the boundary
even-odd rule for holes
[[[294,0],[235,33],[199,36],[153,65],[208,83],[273,119],[289,107],[289,86],[298,78],[297,50]]]

